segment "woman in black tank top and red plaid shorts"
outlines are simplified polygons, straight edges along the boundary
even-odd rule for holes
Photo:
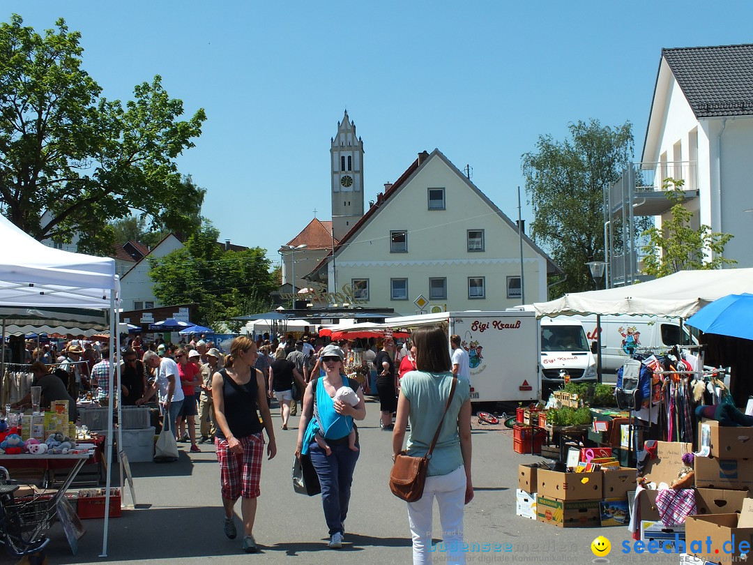
[[[252,532],[264,454],[264,436],[258,414],[261,414],[267,430],[267,459],[277,453],[264,377],[254,368],[256,357],[256,344],[248,337],[236,337],[230,345],[225,368],[212,375],[212,401],[217,423],[215,446],[225,509],[224,532],[228,538],[235,539],[233,509],[237,499],[241,498],[245,524],[242,548],[247,553],[258,551]]]

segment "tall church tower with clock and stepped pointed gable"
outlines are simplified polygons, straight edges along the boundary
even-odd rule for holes
[[[364,215],[364,142],[347,110],[331,143],[332,231],[340,240]]]

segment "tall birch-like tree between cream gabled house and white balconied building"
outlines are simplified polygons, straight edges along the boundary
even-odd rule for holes
[[[522,165],[534,212],[532,238],[566,273],[556,295],[593,289],[586,263],[604,258],[602,189],[620,178],[633,155],[629,121],[615,128],[578,121],[569,130],[572,139],[561,142],[539,136]]]

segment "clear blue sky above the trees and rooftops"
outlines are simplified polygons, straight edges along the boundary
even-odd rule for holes
[[[539,135],[629,120],[638,160],[661,48],[753,41],[750,2],[0,6],[3,20],[17,13],[39,32],[64,17],[109,99],[130,99],[159,74],[187,115],[205,108],[181,172],[206,188],[203,215],[223,240],[273,260],[314,209],[330,219],[330,138],[344,108],[364,140],[366,201],[439,148],[516,219],[520,157]]]

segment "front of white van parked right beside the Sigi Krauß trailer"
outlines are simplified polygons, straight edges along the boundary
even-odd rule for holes
[[[541,389],[557,389],[564,383],[562,371],[572,383],[596,383],[596,359],[584,326],[569,316],[541,319]]]

